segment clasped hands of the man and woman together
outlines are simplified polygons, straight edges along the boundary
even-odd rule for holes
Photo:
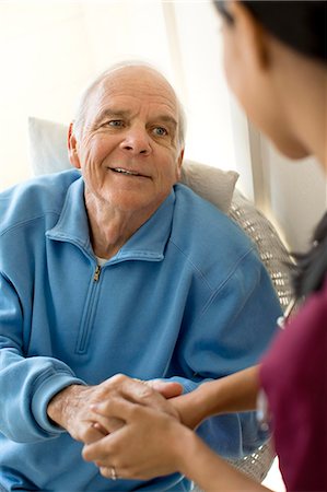
[[[173,442],[183,427],[187,395],[180,396],[182,390],[178,383],[144,384],[119,374],[96,386],[65,388],[50,401],[48,415],[84,443],[83,458],[95,462],[104,477],[148,479],[177,471],[174,449],[163,457],[162,443],[170,442],[168,434]]]

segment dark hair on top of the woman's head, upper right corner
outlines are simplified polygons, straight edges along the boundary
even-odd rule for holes
[[[276,38],[296,51],[327,61],[327,2],[288,0],[242,1],[254,17]],[[233,15],[227,1],[214,1],[229,23]]]

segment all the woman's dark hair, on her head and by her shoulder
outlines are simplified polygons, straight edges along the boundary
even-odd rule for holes
[[[288,0],[242,0],[253,16],[277,39],[290,48],[327,61],[327,2]],[[214,1],[219,12],[234,23],[227,1]],[[293,254],[293,288],[297,298],[318,291],[327,274],[327,213],[315,230],[306,254]]]

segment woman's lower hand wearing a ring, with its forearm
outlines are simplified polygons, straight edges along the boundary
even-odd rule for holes
[[[124,399],[112,399],[109,407],[109,413],[119,415],[125,425],[85,445],[82,453],[103,477],[150,480],[179,471],[207,491],[268,492],[215,455],[176,418]],[[107,411],[96,407],[100,419]]]

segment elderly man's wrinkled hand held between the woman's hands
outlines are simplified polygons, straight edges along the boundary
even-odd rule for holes
[[[160,383],[167,397],[180,394],[177,383]],[[118,374],[96,386],[71,385],[58,393],[49,402],[48,417],[66,429],[77,441],[93,443],[119,429],[124,422],[110,414],[112,399],[127,399],[162,410],[179,420],[178,412],[151,383],[131,379]],[[98,406],[101,415],[95,411]]]

